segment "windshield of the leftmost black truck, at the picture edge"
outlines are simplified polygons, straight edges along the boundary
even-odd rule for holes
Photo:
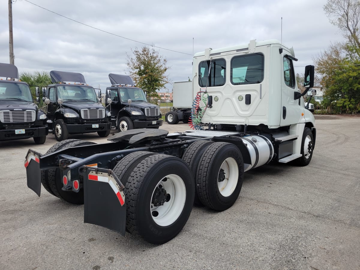
[[[0,82],[0,100],[33,102],[29,86],[16,82]]]

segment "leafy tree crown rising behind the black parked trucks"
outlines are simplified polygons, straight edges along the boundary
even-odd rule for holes
[[[135,47],[132,56],[126,54],[128,73],[136,86],[147,91],[148,96],[158,98],[157,90],[166,89],[165,85],[170,82],[165,73],[170,67],[167,66],[166,58],[159,55],[153,48],[144,46],[140,50]]]

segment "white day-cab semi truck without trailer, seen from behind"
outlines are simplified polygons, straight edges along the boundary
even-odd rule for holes
[[[194,200],[230,208],[245,171],[310,163],[315,121],[296,85],[296,60],[277,40],[197,53],[195,130],[135,129],[103,144],[60,141],[45,155],[29,149],[27,185],[39,196],[42,184],[69,203],[84,203],[84,222],[165,243],[184,227]],[[313,84],[314,66],[307,66],[308,95],[316,94]]]

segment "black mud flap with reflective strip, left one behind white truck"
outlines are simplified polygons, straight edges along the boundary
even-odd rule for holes
[[[25,157],[27,186],[33,190],[39,197],[41,192],[41,170],[40,157],[42,154],[32,149],[27,151]]]

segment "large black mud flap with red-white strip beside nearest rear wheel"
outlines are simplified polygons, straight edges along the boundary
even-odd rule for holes
[[[85,167],[84,222],[125,235],[124,186],[112,170]]]

